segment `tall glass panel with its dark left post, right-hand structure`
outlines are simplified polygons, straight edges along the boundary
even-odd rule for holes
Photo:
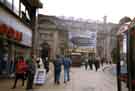
[[[117,37],[117,85],[118,91],[128,90],[127,33]]]

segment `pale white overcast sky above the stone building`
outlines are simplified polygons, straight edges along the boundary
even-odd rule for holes
[[[120,18],[135,16],[135,0],[41,0],[43,9],[39,12],[46,15],[67,16],[75,18],[118,23]]]

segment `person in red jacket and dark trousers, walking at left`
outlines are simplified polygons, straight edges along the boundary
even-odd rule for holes
[[[28,70],[28,65],[23,56],[19,56],[15,62],[15,82],[12,89],[16,88],[16,84],[19,79],[22,79],[22,86],[24,86],[26,72]]]

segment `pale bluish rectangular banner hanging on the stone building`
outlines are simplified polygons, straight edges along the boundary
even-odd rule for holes
[[[71,31],[69,32],[69,46],[82,48],[96,48],[97,33],[92,31]]]

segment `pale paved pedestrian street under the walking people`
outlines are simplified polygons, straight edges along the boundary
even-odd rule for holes
[[[63,72],[62,72],[63,75]],[[60,85],[55,85],[53,74],[50,74],[44,85],[34,86],[34,91],[117,91],[116,78],[101,69],[85,70],[84,68],[72,68],[71,81],[64,84],[63,76]],[[0,91],[25,91],[21,83],[16,89],[11,89],[13,80],[0,82]]]

